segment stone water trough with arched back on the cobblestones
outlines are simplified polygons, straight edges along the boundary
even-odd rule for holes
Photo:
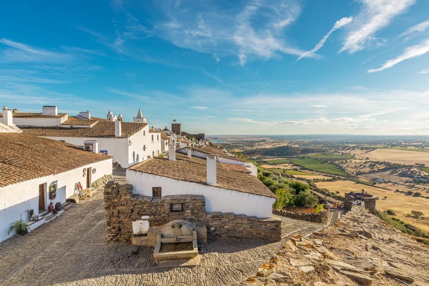
[[[158,229],[156,235],[155,261],[191,259],[198,255],[198,240],[195,224],[173,220]]]

